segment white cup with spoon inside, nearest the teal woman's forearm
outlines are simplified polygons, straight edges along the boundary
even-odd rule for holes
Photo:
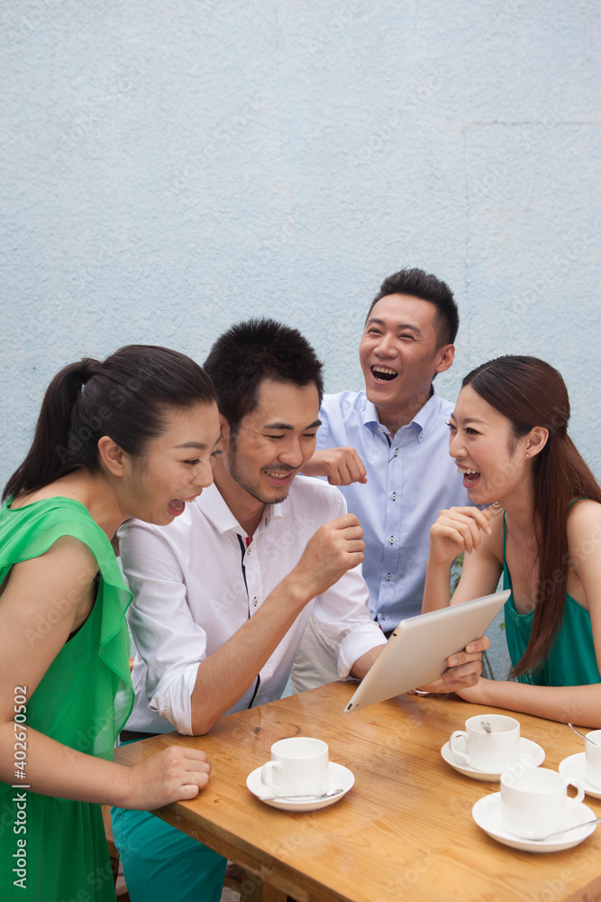
[[[488,723],[487,732],[482,723]],[[457,748],[460,737],[465,751]],[[506,714],[476,714],[465,722],[465,731],[451,733],[449,748],[460,764],[488,774],[500,773],[517,759],[520,751],[520,723]]]

